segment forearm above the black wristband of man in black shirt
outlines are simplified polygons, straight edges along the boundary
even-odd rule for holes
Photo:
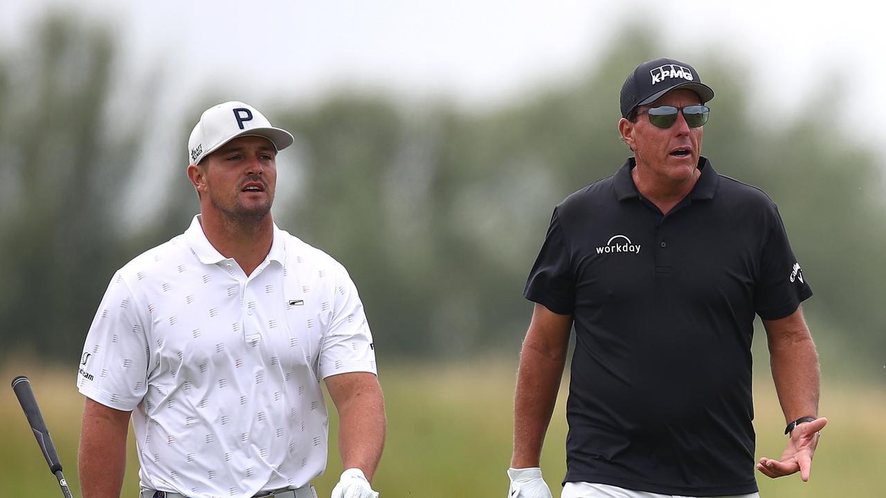
[[[785,421],[818,416],[819,356],[808,331],[791,341],[770,347],[770,367]]]

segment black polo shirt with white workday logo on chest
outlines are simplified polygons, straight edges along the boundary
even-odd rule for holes
[[[663,215],[634,166],[556,206],[524,292],[574,319],[564,482],[754,493],[754,315],[790,315],[812,290],[764,192],[701,158]]]

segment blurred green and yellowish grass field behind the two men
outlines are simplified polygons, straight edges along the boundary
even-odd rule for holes
[[[74,370],[35,370],[28,364],[33,363],[0,368],[7,385],[0,389],[0,496],[61,495],[9,388],[18,374],[31,377],[66,478],[74,495],[80,496],[76,457],[83,400],[74,388]],[[470,366],[383,365],[380,378],[387,402],[388,438],[374,482],[381,496],[503,498],[508,490],[505,470],[510,459],[515,369],[516,358],[513,363]],[[757,386],[758,456],[777,457],[785,443],[781,410],[766,376],[758,376]],[[823,432],[812,480],[803,483],[797,476],[771,480],[758,474],[764,498],[884,495],[880,472],[886,469],[886,393],[882,387],[827,382],[822,391],[821,414],[830,423]],[[330,464],[315,481],[321,497],[329,496],[341,471],[331,432]],[[555,496],[564,473],[565,432],[562,395],[542,459]],[[137,495],[137,467],[130,444],[124,497]]]

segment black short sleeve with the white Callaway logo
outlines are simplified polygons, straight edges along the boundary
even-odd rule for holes
[[[777,320],[797,311],[812,296],[803,269],[794,256],[778,208],[773,205],[766,243],[760,253],[754,311],[764,320]]]

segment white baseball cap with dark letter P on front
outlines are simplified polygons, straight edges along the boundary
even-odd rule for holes
[[[188,139],[188,164],[198,164],[237,136],[263,136],[277,152],[295,141],[290,132],[271,126],[268,118],[252,105],[231,100],[206,109],[200,116]]]

